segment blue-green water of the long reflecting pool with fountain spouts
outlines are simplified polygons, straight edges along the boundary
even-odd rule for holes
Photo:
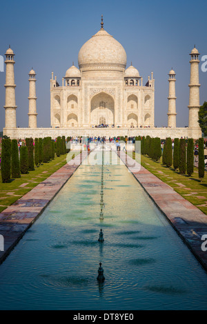
[[[206,310],[206,272],[134,176],[120,163],[103,179],[103,221],[101,165],[81,165],[26,232],[0,266],[0,309]]]

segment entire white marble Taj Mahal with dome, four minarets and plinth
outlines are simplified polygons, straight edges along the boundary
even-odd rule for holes
[[[61,82],[50,79],[50,128],[37,128],[36,73],[29,72],[28,128],[17,128],[14,83],[14,52],[6,51],[6,104],[3,134],[12,139],[51,136],[170,136],[201,137],[199,112],[199,52],[190,52],[190,94],[186,112],[188,128],[176,127],[175,71],[168,74],[168,127],[155,128],[155,79],[148,80],[137,68],[126,68],[126,51],[103,28],[79,50],[77,68],[66,70]],[[106,125],[98,128],[99,125]]]

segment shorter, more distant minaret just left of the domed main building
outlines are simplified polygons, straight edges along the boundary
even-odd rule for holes
[[[37,128],[37,107],[36,107],[36,85],[35,79],[36,73],[34,72],[33,68],[29,73],[29,82],[30,82],[30,92],[29,92],[29,128]]]

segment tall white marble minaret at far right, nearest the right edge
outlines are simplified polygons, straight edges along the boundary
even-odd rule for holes
[[[190,95],[189,95],[189,123],[188,128],[197,128],[200,130],[198,123],[198,112],[200,108],[199,101],[199,52],[193,48],[190,53]]]

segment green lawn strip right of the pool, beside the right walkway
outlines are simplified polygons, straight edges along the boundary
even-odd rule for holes
[[[132,153],[128,154],[132,157]],[[144,155],[141,155],[141,165],[207,214],[207,172],[201,182],[197,168],[194,169],[192,176],[179,174],[173,168],[166,168],[166,165],[155,162]]]

